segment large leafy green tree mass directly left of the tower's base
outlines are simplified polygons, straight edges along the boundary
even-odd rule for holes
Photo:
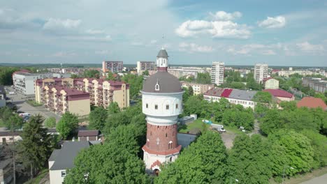
[[[64,183],[85,183],[85,174],[87,183],[150,183],[144,162],[136,155],[139,151],[136,130],[132,124],[118,126],[105,144],[81,151]]]

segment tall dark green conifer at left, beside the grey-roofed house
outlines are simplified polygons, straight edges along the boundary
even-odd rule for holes
[[[48,129],[43,128],[43,121],[44,118],[40,114],[31,116],[29,123],[24,126],[20,141],[20,157],[24,158],[23,164],[30,167],[32,176],[43,167],[52,151],[51,138]]]

